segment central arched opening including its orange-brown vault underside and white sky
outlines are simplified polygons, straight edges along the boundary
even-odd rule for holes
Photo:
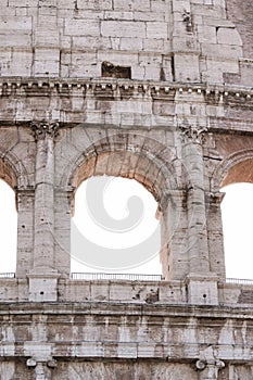
[[[168,172],[167,167],[155,156],[152,157],[150,152],[148,154],[143,150],[126,151],[123,148],[122,151],[103,151],[99,154],[96,152],[86,160],[83,155],[69,177],[69,185],[75,189],[72,202],[72,256],[75,256],[78,262],[88,264],[85,259],[77,257],[79,254],[76,252],[79,246],[83,246],[83,252],[85,252],[85,246],[87,246],[86,252],[90,252],[92,256],[90,258],[92,262],[91,270],[116,271],[118,274],[140,273],[141,270],[142,274],[160,274],[161,277],[164,265],[162,268],[160,264],[162,257],[159,253],[162,256],[167,253],[165,250],[162,251],[160,220],[157,218],[161,215],[161,205],[164,206],[166,203],[168,180],[172,179],[172,176],[168,173],[165,174],[164,170]],[[106,211],[101,200],[102,195],[105,195],[104,190],[109,190],[109,188],[117,190],[112,191],[113,199],[109,201],[109,210]],[[128,191],[128,195],[125,193],[126,191]],[[102,219],[102,221],[97,223],[97,232],[94,233],[96,242],[100,242],[103,250],[101,246],[100,250],[97,250],[90,244],[90,241],[84,241],[83,233],[76,228],[79,212],[87,220],[90,219],[91,212],[84,208],[85,199],[89,193],[92,195],[90,199],[96,208],[96,217]],[[106,193],[106,197],[110,198],[111,191],[109,190]],[[80,201],[78,201],[79,198]],[[97,201],[94,202],[94,200]],[[77,206],[76,202],[80,202],[80,206]],[[118,213],[122,214],[118,215]],[[144,220],[144,214],[148,215],[147,220]],[[146,236],[141,236],[140,230],[144,223]],[[85,221],[80,221],[81,224],[85,226]],[[86,227],[86,231],[90,225]],[[106,237],[104,237],[105,232]],[[102,239],[104,239],[103,243]],[[128,250],[130,246],[131,250]],[[109,257],[105,252],[111,257],[110,259],[104,258]],[[96,261],[96,257],[99,257],[100,261],[99,258]],[[106,265],[105,263],[100,264],[103,258],[107,261]],[[152,258],[154,262],[147,264],[146,267],[140,267]],[[77,263],[73,261],[72,273],[77,270]]]

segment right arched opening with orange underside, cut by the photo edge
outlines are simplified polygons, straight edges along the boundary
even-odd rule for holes
[[[253,159],[231,164],[220,191],[226,276],[253,279]]]

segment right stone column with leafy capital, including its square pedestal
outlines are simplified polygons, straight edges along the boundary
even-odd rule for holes
[[[210,263],[206,195],[204,183],[203,148],[206,126],[181,125],[182,160],[188,177],[188,257],[189,274],[188,302],[191,304],[217,304],[218,290],[216,274]],[[205,280],[204,288],[200,287]]]

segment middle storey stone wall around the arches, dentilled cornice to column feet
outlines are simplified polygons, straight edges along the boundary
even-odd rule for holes
[[[176,84],[168,88],[114,78],[3,79],[0,102],[1,150],[9,165],[2,165],[1,176],[9,173],[10,185],[17,183],[18,277],[43,266],[46,257],[51,269],[68,276],[75,190],[88,177],[102,174],[135,178],[156,199],[165,278],[184,280],[189,273],[225,277],[218,191],[226,182],[252,178],[250,90]],[[47,119],[49,113],[60,124],[31,123]],[[40,188],[45,178],[47,186]],[[194,187],[203,190],[192,191]],[[46,221],[33,208],[46,213]],[[199,243],[204,244],[202,258]]]

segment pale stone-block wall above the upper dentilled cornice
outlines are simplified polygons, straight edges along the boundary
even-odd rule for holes
[[[0,75],[92,78],[107,62],[132,79],[223,83],[239,74],[237,25],[249,41],[230,9],[235,24],[220,0],[1,0]]]

